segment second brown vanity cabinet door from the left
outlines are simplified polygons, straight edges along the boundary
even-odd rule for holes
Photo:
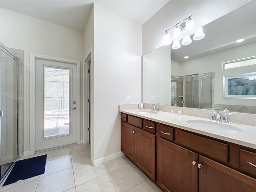
[[[156,177],[156,143],[155,136],[135,127],[135,159],[134,163],[155,181]]]

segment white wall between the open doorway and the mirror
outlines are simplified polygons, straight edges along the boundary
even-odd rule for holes
[[[141,26],[94,4],[94,160],[121,150],[118,105],[141,102]]]

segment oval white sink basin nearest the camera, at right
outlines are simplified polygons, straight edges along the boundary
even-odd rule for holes
[[[204,120],[188,120],[188,124],[195,125],[198,127],[202,127],[207,130],[216,130],[216,131],[223,131],[223,132],[229,132],[229,133],[236,133],[236,132],[242,132],[243,130],[230,125],[230,124],[224,124],[221,122],[214,122],[214,121],[204,121]]]

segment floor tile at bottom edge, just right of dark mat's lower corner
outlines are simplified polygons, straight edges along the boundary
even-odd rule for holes
[[[72,168],[40,178],[36,192],[62,192],[75,186]]]

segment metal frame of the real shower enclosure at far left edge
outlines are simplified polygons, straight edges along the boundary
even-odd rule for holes
[[[2,182],[5,180],[6,176],[9,174],[10,170],[12,170],[12,167],[14,166],[15,162],[18,160],[19,158],[19,110],[18,110],[18,106],[19,106],[19,100],[18,100],[18,90],[19,90],[19,84],[18,84],[18,74],[19,74],[19,68],[18,68],[18,64],[19,64],[19,60],[20,58],[18,58],[15,54],[13,54],[10,50],[8,50],[8,48],[6,46],[4,46],[4,44],[2,44],[0,42],[0,50],[2,50],[3,52],[5,52],[8,56],[10,56],[11,58],[13,58],[16,61],[16,108],[17,108],[17,137],[16,137],[16,141],[17,141],[17,150],[16,150],[16,157],[14,158],[14,160],[12,161],[12,163],[10,164],[10,166],[8,167],[7,170],[5,170],[4,174],[0,175],[0,184],[2,184]],[[0,117],[1,118],[1,117]],[[0,150],[1,150],[1,130],[0,130]],[[1,156],[1,153],[0,153]],[[0,165],[1,167],[1,165]]]

